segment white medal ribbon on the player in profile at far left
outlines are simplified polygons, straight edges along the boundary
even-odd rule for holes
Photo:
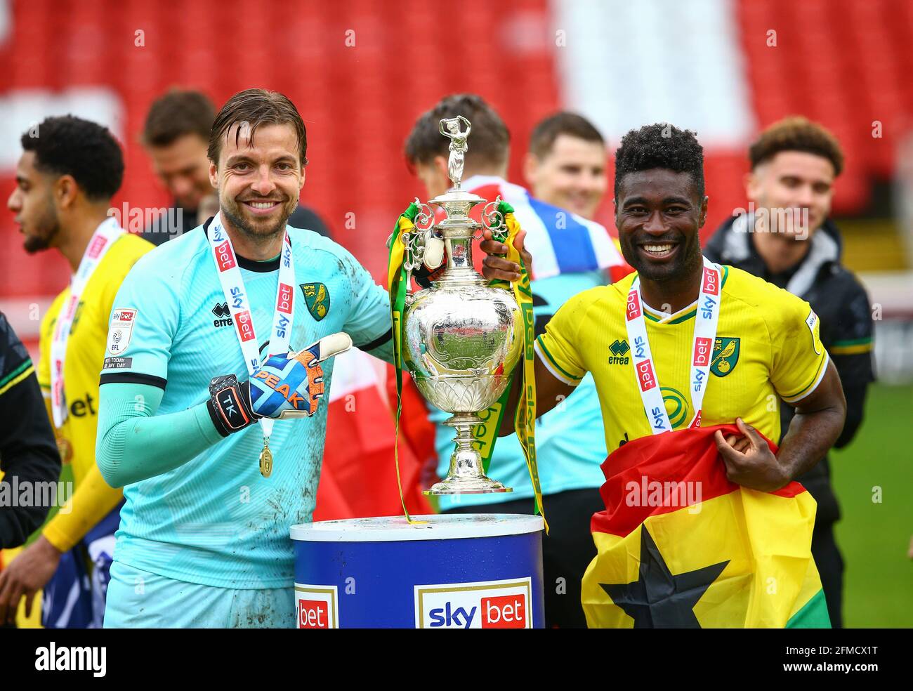
[[[79,268],[69,279],[69,298],[61,306],[54,336],[51,340],[51,413],[54,415],[54,426],[60,427],[67,419],[67,396],[64,393],[63,366],[67,359],[67,340],[73,327],[73,318],[79,307],[79,300],[89,283],[89,278],[101,263],[101,259],[126,231],[113,218],[102,221],[92,233],[89,245],[79,260]]]

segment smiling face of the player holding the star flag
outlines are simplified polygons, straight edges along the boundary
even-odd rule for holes
[[[615,199],[615,226],[625,261],[650,280],[680,278],[700,264],[698,231],[707,197],[690,173],[665,168],[627,173]]]

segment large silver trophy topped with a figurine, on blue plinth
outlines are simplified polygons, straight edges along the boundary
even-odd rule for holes
[[[404,309],[406,366],[422,395],[452,414],[444,424],[456,429],[450,470],[426,495],[512,491],[485,475],[482,456],[473,446],[473,427],[483,423],[479,413],[498,401],[519,361],[523,321],[513,295],[488,286],[472,266],[472,242],[481,237],[483,226],[500,232],[505,225],[498,201],[483,207],[481,224],[469,218],[472,207],[487,202],[460,189],[470,129],[462,116],[441,120],[441,134],[450,138],[447,172],[454,186],[428,204],[442,208],[446,218],[434,223],[431,208],[415,200],[418,233],[404,238],[410,271],[422,264],[436,269],[446,250],[442,275],[432,288],[407,295]],[[498,424],[498,416],[486,423]]]

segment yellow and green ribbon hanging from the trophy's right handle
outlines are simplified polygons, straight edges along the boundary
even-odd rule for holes
[[[523,318],[523,367],[519,372],[514,370],[514,376],[522,377],[522,389],[520,390],[519,401],[517,402],[517,411],[514,414],[514,430],[519,439],[519,445],[523,449],[523,455],[526,456],[526,467],[530,472],[530,482],[535,497],[535,511],[542,517],[545,523],[545,532],[549,532],[549,522],[545,519],[545,513],[542,510],[542,487],[539,481],[539,466],[536,462],[536,354],[533,349],[535,336],[535,319],[532,314],[532,288],[530,287],[530,270],[523,262],[519,250],[513,245],[514,240],[519,234],[520,227],[516,216],[514,216],[513,206],[503,200],[498,200],[498,213],[504,217],[506,232],[498,233],[493,230],[494,236],[498,242],[508,246],[508,260],[519,265],[519,281],[509,283],[504,280],[494,280],[488,285],[498,286],[513,291],[514,299],[519,305],[520,315]],[[498,430],[501,426],[501,419],[504,416],[504,409],[507,407],[510,390],[513,385],[509,385],[498,402],[488,408],[486,420],[488,424],[477,424],[473,431],[476,439],[481,443],[482,448],[482,466],[488,473],[488,465],[491,463],[491,455],[495,450],[495,441],[498,439]],[[494,424],[491,424],[494,421]]]

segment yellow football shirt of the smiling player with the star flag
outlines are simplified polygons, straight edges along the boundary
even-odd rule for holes
[[[807,302],[761,278],[722,267],[717,338],[701,425],[734,424],[741,417],[773,442],[780,440],[780,401],[802,400],[824,377],[828,355],[819,320]],[[548,370],[572,386],[593,373],[611,453],[651,433],[635,378],[624,321],[636,274],[568,300],[536,340]],[[656,378],[674,429],[691,410],[690,355],[697,301],[675,314],[644,307]]]

